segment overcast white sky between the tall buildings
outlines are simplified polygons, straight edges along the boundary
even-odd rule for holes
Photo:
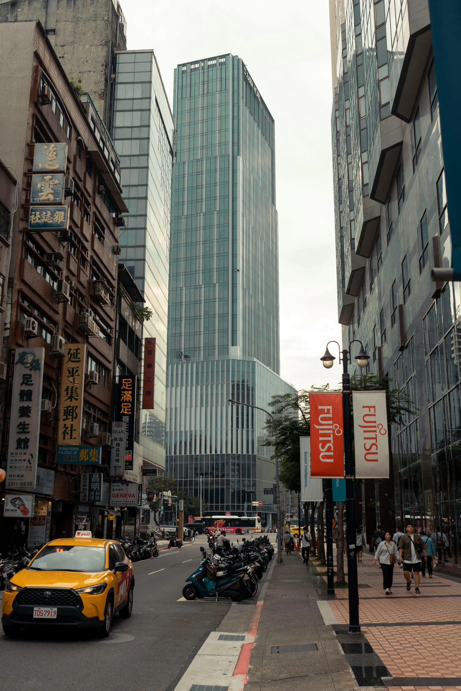
[[[297,388],[336,384],[319,357],[339,341],[332,199],[328,0],[122,0],[128,48],[153,48],[173,103],[180,62],[243,59],[275,120],[281,376]]]

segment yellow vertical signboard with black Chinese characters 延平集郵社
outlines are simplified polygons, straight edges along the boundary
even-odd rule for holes
[[[65,446],[78,446],[80,443],[85,362],[86,345],[66,343],[66,354],[62,360],[61,405],[57,437],[57,443]]]

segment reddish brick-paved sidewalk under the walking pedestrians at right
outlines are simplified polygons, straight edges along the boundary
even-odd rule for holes
[[[433,578],[421,578],[417,595],[413,579],[406,591],[403,569],[396,564],[393,594],[384,596],[382,571],[372,563],[373,555],[364,552],[357,565],[361,631],[397,683],[402,682],[390,681],[388,688],[461,690],[461,583],[437,576],[434,569]],[[336,589],[328,604],[338,623],[347,624],[348,590]],[[442,679],[447,685],[440,685]]]

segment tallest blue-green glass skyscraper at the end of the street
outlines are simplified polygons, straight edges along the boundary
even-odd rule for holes
[[[279,377],[274,120],[243,61],[175,70],[167,365],[167,473],[211,511],[274,512],[261,447]],[[267,517],[270,520],[269,517]]]

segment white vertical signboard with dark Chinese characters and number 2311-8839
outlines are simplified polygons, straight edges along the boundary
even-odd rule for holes
[[[8,443],[8,489],[35,489],[44,348],[16,348]]]

